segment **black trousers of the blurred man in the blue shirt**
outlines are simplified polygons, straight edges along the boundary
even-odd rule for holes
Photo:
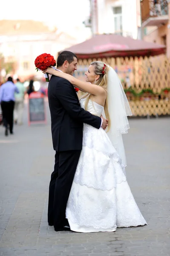
[[[3,125],[7,128],[9,125],[10,132],[13,131],[13,115],[14,115],[14,101],[1,102],[1,109],[3,114]]]

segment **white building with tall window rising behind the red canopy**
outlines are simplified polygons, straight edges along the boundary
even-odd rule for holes
[[[85,22],[92,34],[115,33],[137,39],[141,27],[139,0],[90,0],[90,17]]]

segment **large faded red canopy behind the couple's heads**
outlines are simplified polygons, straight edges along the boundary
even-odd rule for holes
[[[121,35],[109,34],[95,35],[81,44],[64,50],[74,52],[78,58],[139,57],[164,54],[166,47]]]

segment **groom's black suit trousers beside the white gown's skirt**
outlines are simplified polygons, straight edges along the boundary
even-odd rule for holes
[[[49,183],[48,223],[55,229],[67,224],[66,205],[81,150],[62,151],[55,154],[54,172]]]

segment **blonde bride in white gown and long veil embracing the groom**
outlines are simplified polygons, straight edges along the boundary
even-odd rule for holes
[[[102,61],[93,61],[85,73],[86,82],[53,68],[43,73],[67,79],[86,92],[80,99],[81,107],[108,119],[107,132],[84,124],[83,148],[66,207],[70,229],[112,232],[117,227],[147,224],[125,175],[121,134],[127,133],[127,116],[132,113],[115,71]]]

